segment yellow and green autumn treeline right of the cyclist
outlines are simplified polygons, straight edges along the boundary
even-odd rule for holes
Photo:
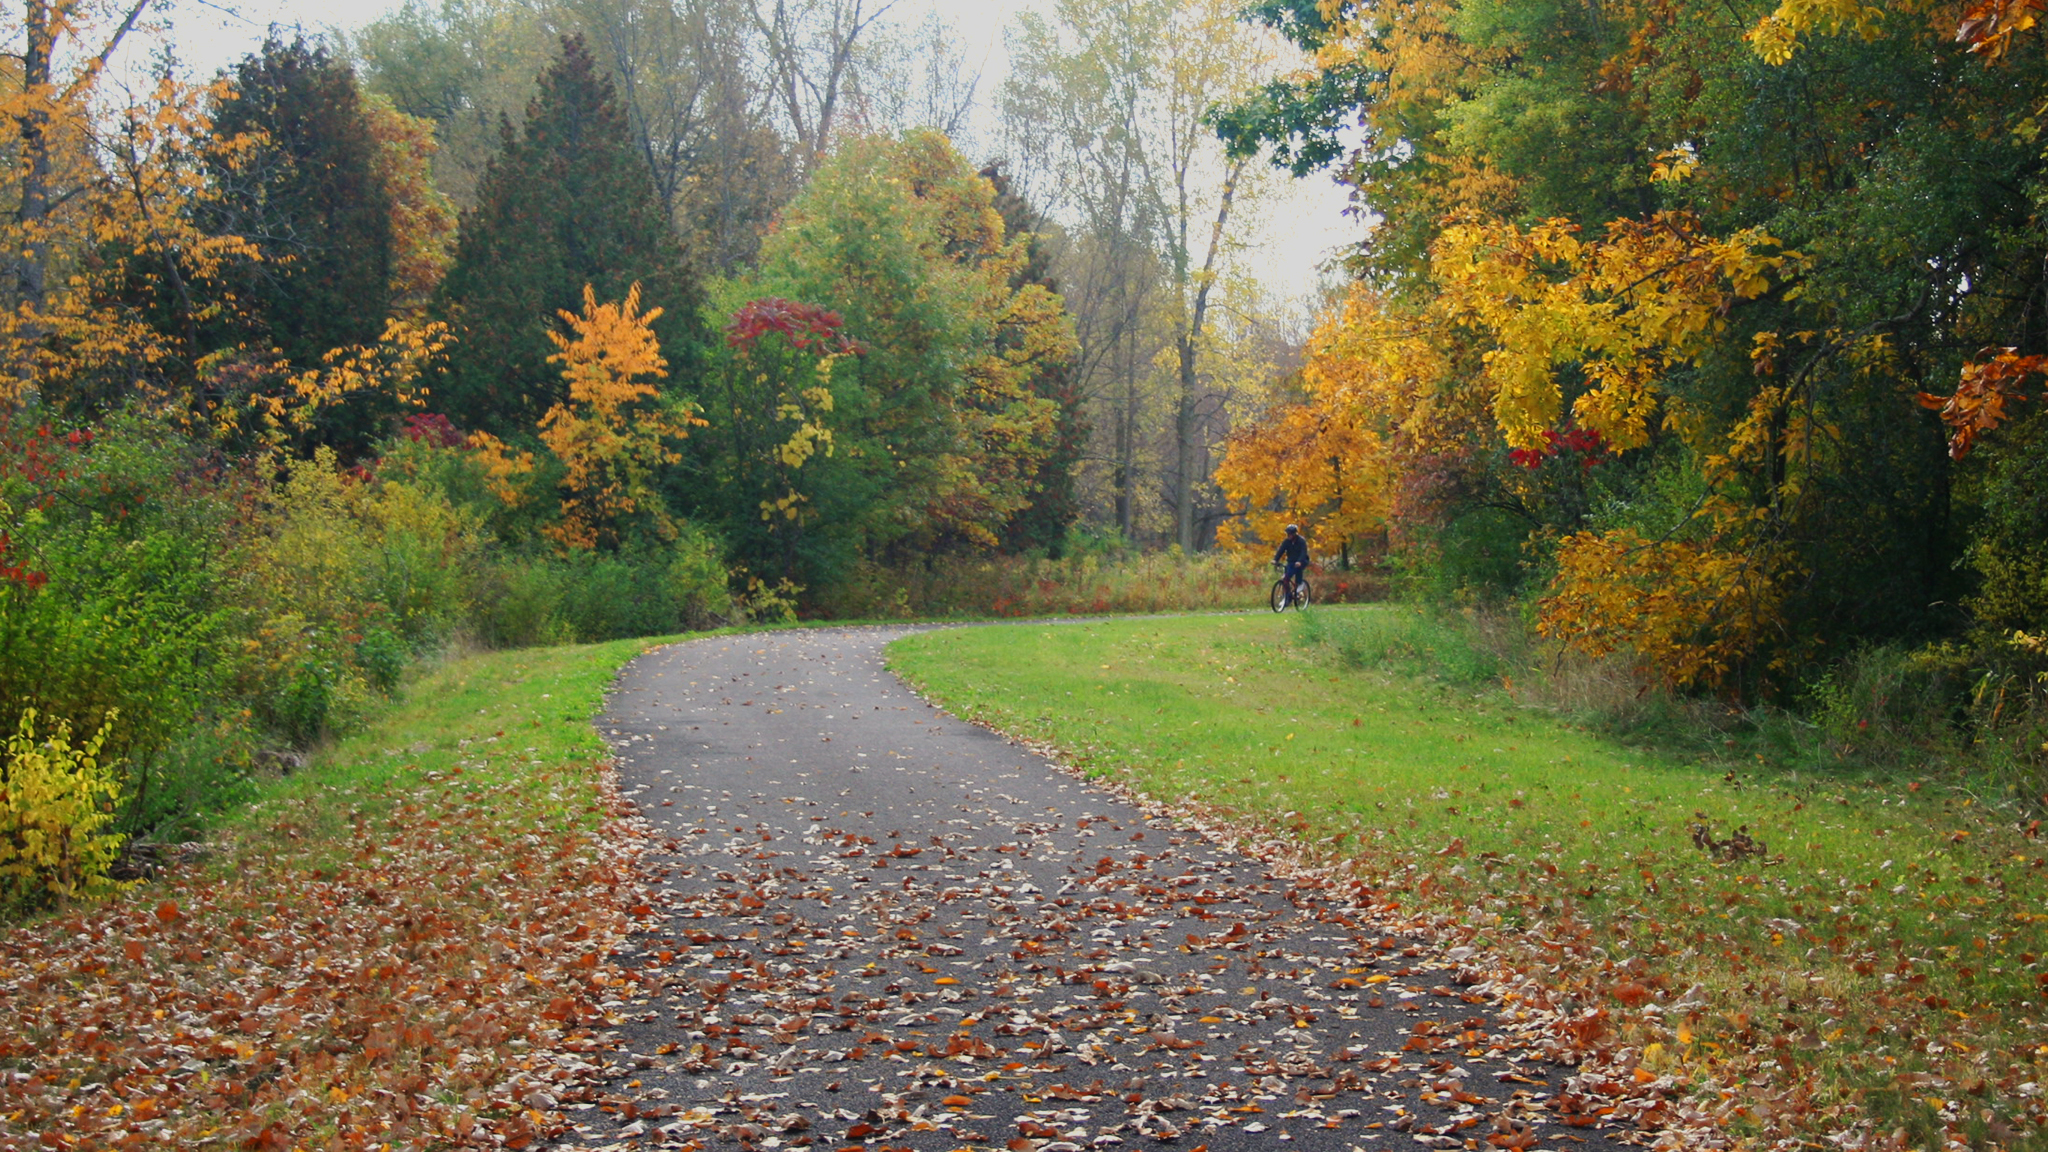
[[[1219,127],[1374,219],[1221,465],[1251,529],[2048,804],[2034,4],[1251,12],[1313,68]]]

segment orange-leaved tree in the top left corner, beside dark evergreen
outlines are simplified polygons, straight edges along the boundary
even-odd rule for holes
[[[203,221],[219,199],[207,166],[233,170],[248,135],[221,137],[209,105],[223,82],[160,78],[115,102],[104,55],[59,76],[92,41],[78,4],[31,6],[27,74],[0,90],[0,408],[45,398],[119,404],[141,392],[195,422],[229,418],[203,383],[201,328],[236,303],[223,273],[252,244]],[[227,408],[236,408],[229,404]]]

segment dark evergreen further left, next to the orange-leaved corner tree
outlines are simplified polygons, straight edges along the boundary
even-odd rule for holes
[[[354,70],[305,37],[272,35],[236,66],[213,125],[223,139],[264,137],[219,170],[221,223],[264,256],[236,285],[227,342],[270,344],[311,367],[330,348],[377,340],[391,303],[391,195]]]

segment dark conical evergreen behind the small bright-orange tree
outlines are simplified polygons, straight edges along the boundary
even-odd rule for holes
[[[582,307],[586,285],[616,301],[639,283],[645,305],[664,310],[655,336],[670,377],[694,379],[698,289],[612,84],[582,37],[563,37],[522,129],[506,121],[502,137],[436,301],[459,336],[438,406],[461,426],[530,437],[565,396],[561,371],[547,363],[555,351],[547,332],[561,326],[561,312]]]

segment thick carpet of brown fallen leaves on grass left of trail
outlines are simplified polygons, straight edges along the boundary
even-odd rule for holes
[[[276,814],[356,810],[328,859],[281,834],[219,873],[10,929],[0,1066],[37,1076],[0,1076],[0,1146],[530,1148],[561,1134],[561,1113],[518,1101],[588,1091],[600,1039],[584,1021],[627,980],[598,957],[627,931],[637,834],[596,765],[532,783],[590,795],[612,824],[549,830],[547,787],[526,783],[338,789]]]

